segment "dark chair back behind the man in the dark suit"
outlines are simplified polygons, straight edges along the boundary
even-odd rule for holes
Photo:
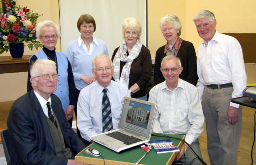
[[[6,162],[7,165],[10,165],[11,137],[8,129],[1,131],[1,138],[3,144],[3,151],[6,156]]]

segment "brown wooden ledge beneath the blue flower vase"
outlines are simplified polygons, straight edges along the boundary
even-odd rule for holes
[[[0,56],[0,74],[27,72],[29,68],[29,58],[32,55],[23,55],[21,58],[12,56]]]

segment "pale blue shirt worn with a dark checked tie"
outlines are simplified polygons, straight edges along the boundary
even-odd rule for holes
[[[117,129],[125,96],[130,97],[127,87],[116,81],[106,87],[111,106],[113,129]],[[81,136],[90,142],[90,137],[102,133],[102,90],[97,81],[81,90],[77,102],[77,126]]]

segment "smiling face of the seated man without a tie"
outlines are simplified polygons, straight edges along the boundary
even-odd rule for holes
[[[166,72],[164,69],[169,69],[169,71]],[[168,88],[171,90],[176,88],[180,73],[183,70],[183,67],[179,67],[178,60],[176,58],[164,60],[160,70],[163,74],[163,77],[166,79],[166,84]],[[171,70],[175,70],[175,71],[171,71]]]

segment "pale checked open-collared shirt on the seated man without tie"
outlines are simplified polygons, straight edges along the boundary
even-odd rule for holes
[[[204,131],[204,114],[197,88],[180,79],[170,90],[166,81],[154,86],[148,101],[157,104],[153,131],[166,134],[185,134],[192,144]]]

